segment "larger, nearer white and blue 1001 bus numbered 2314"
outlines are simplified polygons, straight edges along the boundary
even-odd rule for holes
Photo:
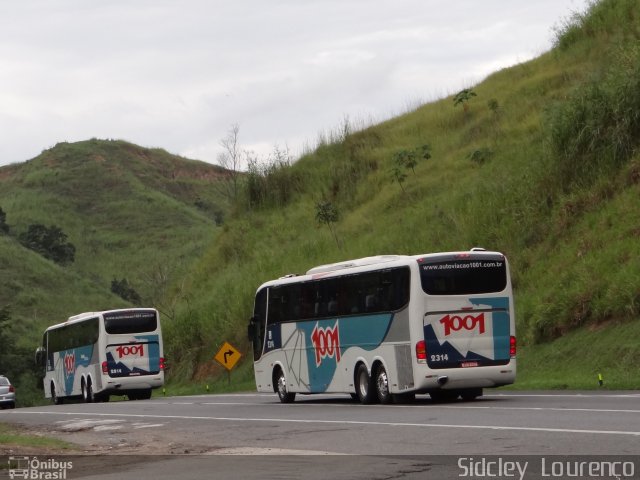
[[[472,249],[385,255],[261,285],[248,328],[260,392],[390,403],[471,400],[516,376],[506,257]]]

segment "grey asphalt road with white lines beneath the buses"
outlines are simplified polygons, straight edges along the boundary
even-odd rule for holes
[[[154,480],[426,478],[427,472],[459,478],[478,473],[470,468],[491,458],[537,456],[527,457],[531,473],[544,457],[640,455],[640,393],[485,393],[474,402],[438,404],[419,396],[385,406],[333,395],[298,396],[289,405],[265,394],[168,397],[4,410],[0,422],[100,454],[87,456],[109,467],[94,479],[132,472]],[[635,462],[639,478],[640,456],[625,458]],[[91,468],[67,478],[98,473]],[[498,473],[509,477],[508,470]]]

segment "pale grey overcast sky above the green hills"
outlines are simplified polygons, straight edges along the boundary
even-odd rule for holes
[[[0,3],[0,165],[124,139],[215,163],[298,156],[548,50],[587,0],[20,0]]]

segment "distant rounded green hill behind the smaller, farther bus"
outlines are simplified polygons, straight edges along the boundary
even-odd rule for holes
[[[0,307],[33,347],[46,325],[87,310],[131,305],[111,291],[126,279],[144,305],[170,311],[170,283],[202,255],[228,210],[220,167],[124,141],[61,143],[0,168]],[[55,225],[75,246],[60,265],[22,246],[32,224]]]

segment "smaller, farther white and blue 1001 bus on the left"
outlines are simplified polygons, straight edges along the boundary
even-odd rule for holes
[[[160,317],[153,308],[88,312],[47,328],[36,362],[46,398],[151,398],[164,384]]]

